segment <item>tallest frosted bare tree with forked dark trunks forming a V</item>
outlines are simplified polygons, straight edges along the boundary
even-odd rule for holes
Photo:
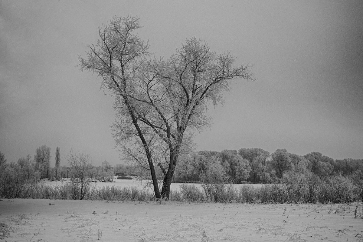
[[[233,67],[230,53],[217,55],[195,38],[169,60],[151,59],[148,43],[134,33],[139,28],[137,17],[114,17],[99,28],[100,39],[79,65],[98,74],[115,99],[117,145],[150,171],[156,198],[169,198],[179,155],[192,147],[194,132],[209,124],[208,104],[223,100],[231,79],[253,76],[250,66]],[[161,193],[155,166],[163,174]]]

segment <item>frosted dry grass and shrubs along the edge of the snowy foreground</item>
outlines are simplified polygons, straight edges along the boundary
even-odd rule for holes
[[[2,178],[1,178],[2,179]],[[2,181],[3,183],[5,180]],[[16,182],[16,181],[13,181]],[[26,184],[18,181],[13,190],[2,187],[0,197],[34,198],[34,199],[77,199],[79,187],[77,183],[63,183],[51,186],[44,183]],[[215,202],[233,203],[351,203],[363,200],[363,182],[352,176],[335,175],[324,179],[311,173],[298,174],[286,172],[279,183],[254,187],[240,186],[237,189],[226,184],[223,189],[213,190]],[[213,184],[211,185],[213,187]],[[208,196],[207,196],[208,194]],[[84,198],[86,200],[117,201],[155,201],[149,190],[137,187],[90,186]],[[170,201],[178,202],[210,202],[211,195],[195,185],[180,185],[179,191],[171,191]]]

